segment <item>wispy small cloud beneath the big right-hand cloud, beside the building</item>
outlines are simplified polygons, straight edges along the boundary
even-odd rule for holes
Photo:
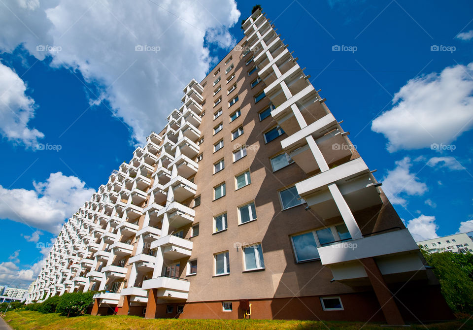
[[[383,191],[391,203],[405,206],[406,196],[422,196],[427,191],[427,185],[410,172],[411,166],[410,158],[405,157],[382,180]]]

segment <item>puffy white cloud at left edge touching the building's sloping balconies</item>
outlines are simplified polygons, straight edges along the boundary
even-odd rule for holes
[[[45,182],[33,182],[33,185],[34,190],[0,186],[0,219],[57,233],[64,220],[95,192],[86,188],[79,178],[61,172],[51,173]]]

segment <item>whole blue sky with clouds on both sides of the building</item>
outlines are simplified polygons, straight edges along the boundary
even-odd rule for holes
[[[473,230],[471,1],[259,3],[414,237]],[[0,4],[0,284],[34,279],[61,224],[242,38],[254,4]]]

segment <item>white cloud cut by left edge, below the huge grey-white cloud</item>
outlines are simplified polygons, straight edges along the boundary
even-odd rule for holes
[[[44,134],[28,127],[35,105],[26,89],[18,74],[0,63],[0,134],[13,143],[32,147]]]

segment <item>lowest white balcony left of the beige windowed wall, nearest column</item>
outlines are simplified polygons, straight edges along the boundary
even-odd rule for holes
[[[160,276],[143,281],[142,289],[158,289],[159,299],[187,299],[189,294],[189,281]]]

